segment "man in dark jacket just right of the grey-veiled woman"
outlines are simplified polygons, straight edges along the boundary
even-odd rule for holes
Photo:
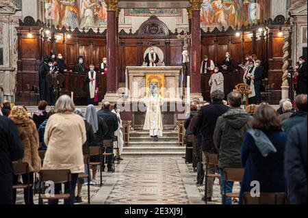
[[[103,103],[103,107],[101,110],[97,112],[97,115],[103,118],[103,120],[105,120],[105,123],[108,126],[108,131],[104,135],[103,140],[114,139],[114,132],[118,130],[118,118],[116,117],[115,113],[112,113],[112,111],[110,111],[110,103],[109,102]],[[113,146],[105,149],[105,152],[113,153]],[[108,172],[112,172],[112,157],[107,156],[106,162],[107,162]],[[104,165],[104,161],[103,161],[103,165]],[[105,165],[103,166],[103,169],[104,168],[105,168]]]

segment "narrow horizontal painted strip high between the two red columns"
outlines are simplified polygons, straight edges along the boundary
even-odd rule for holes
[[[125,16],[182,16],[178,8],[133,8],[125,9]]]

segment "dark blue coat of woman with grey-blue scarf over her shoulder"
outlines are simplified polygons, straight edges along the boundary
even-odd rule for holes
[[[283,161],[287,134],[283,131],[264,132],[270,139],[276,152],[262,156],[255,140],[246,133],[242,143],[242,166],[245,168],[241,183],[240,197],[246,191],[251,191],[251,181],[257,180],[260,192],[285,192],[285,176]]]

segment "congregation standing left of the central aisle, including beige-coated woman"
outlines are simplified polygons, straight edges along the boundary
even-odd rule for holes
[[[124,144],[123,126],[116,105],[112,109],[109,102],[103,101],[101,110],[88,105],[83,113],[75,108],[68,95],[60,96],[55,107],[49,111],[47,105],[45,100],[40,100],[38,110],[31,114],[25,106],[11,109],[8,101],[3,103],[0,115],[0,204],[16,203],[16,189],[12,186],[21,184],[21,180],[23,184],[29,182],[34,186],[25,188],[23,192],[25,204],[34,204],[34,184],[44,169],[69,169],[71,179],[64,183],[62,193],[69,193],[70,197],[64,200],[64,204],[82,202],[82,186],[88,182],[99,185],[97,172],[104,172],[106,165],[107,172],[114,172],[114,160],[123,160],[120,156]],[[109,139],[112,139],[111,146],[103,146],[103,141]],[[80,175],[90,174],[84,163],[90,146],[99,146],[101,154],[112,155],[105,158],[101,155],[90,156],[89,163],[101,161],[101,169],[98,165],[92,165],[92,175],[88,181]],[[117,152],[114,152],[115,148]],[[44,151],[43,160],[40,159],[40,151]],[[15,175],[12,161],[27,163],[29,174]],[[61,193],[61,189],[61,184],[55,184],[54,193]],[[48,204],[58,204],[58,200],[48,200]]]

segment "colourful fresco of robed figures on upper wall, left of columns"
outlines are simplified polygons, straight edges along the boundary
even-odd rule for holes
[[[47,23],[55,27],[89,29],[107,21],[104,0],[47,0],[44,8]]]

